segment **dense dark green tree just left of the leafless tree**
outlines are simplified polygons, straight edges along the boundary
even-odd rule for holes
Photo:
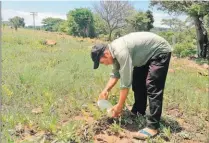
[[[95,37],[94,19],[92,12],[87,8],[78,8],[69,11],[69,34],[82,37]]]

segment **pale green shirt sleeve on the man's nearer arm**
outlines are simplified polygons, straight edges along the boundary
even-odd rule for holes
[[[123,49],[119,54],[120,88],[130,88],[132,84],[133,66],[128,49]]]

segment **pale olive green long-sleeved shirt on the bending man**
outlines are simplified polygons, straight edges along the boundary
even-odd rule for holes
[[[130,88],[133,67],[140,67],[154,55],[171,52],[169,43],[151,32],[134,32],[108,44],[114,59],[111,76],[120,78],[120,88]]]

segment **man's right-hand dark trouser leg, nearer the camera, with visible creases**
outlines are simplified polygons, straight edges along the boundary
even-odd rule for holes
[[[151,58],[146,79],[147,96],[149,99],[149,114],[147,127],[159,128],[162,113],[163,91],[169,67],[171,53],[160,54]]]

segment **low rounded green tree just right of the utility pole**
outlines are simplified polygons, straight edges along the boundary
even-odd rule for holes
[[[42,24],[46,31],[56,32],[59,30],[60,24],[64,21],[65,20],[60,18],[48,17],[42,20]]]

